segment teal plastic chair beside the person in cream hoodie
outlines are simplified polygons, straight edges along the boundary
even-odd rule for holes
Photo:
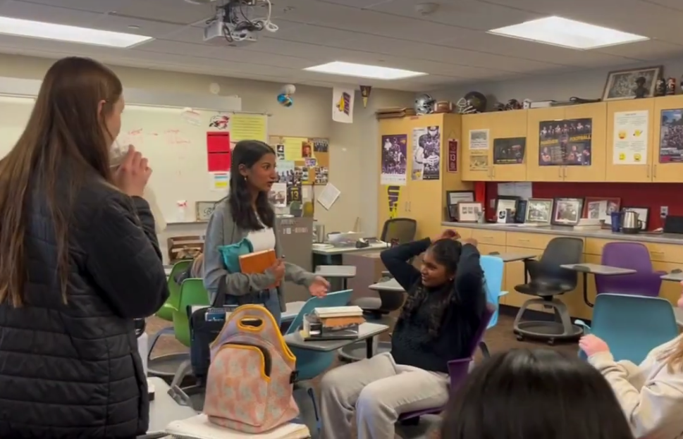
[[[671,303],[661,297],[601,293],[596,297],[591,326],[577,320],[584,333],[605,340],[616,361],[640,364],[659,345],[678,336]],[[579,350],[579,357],[586,358]]]

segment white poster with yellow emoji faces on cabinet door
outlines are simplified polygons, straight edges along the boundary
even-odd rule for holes
[[[614,113],[613,163],[644,165],[648,162],[649,112],[620,111]]]

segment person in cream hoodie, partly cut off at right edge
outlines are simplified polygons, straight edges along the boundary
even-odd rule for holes
[[[595,335],[582,337],[579,346],[612,386],[636,438],[683,439],[683,335],[653,349],[638,366],[615,361]]]

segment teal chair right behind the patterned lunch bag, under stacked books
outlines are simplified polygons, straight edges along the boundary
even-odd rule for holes
[[[301,330],[302,323],[304,321],[304,316],[313,312],[315,308],[329,308],[329,307],[345,307],[351,300],[351,293],[353,290],[343,290],[337,292],[331,292],[325,297],[311,297],[306,301],[304,307],[302,307],[299,314],[295,317],[294,321],[287,330],[287,334],[294,333],[297,330]],[[316,352],[312,350],[299,349],[297,347],[290,347],[290,350],[297,357],[297,383],[301,381],[308,381],[316,378],[321,373],[328,369],[336,355],[336,352]],[[316,404],[315,392],[310,385],[300,385],[300,387],[305,388],[311,401],[313,403],[313,409],[315,412],[316,421],[318,422],[318,427],[320,427],[320,416],[318,412],[318,405]]]

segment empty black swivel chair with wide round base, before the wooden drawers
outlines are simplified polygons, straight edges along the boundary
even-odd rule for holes
[[[553,345],[555,340],[572,340],[582,335],[582,328],[572,324],[567,306],[555,296],[577,287],[577,272],[560,266],[580,264],[583,253],[584,242],[579,238],[556,237],[548,242],[540,260],[524,261],[524,270],[529,273],[530,280],[529,283],[515,286],[515,290],[536,298],[527,300],[519,308],[513,325],[517,340],[537,338]],[[524,311],[531,305],[555,309],[555,321],[522,321]]]

